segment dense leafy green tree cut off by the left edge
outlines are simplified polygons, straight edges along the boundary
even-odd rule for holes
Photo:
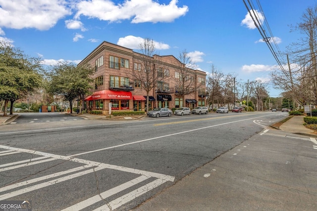
[[[10,101],[10,114],[13,102],[25,98],[42,82],[41,60],[29,57],[19,48],[0,42],[0,100],[4,100],[3,116],[7,116],[6,107]]]

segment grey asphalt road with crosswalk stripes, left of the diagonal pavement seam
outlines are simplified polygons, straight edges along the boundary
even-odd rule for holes
[[[286,115],[23,114],[0,127],[0,201],[29,200],[33,211],[133,209]]]

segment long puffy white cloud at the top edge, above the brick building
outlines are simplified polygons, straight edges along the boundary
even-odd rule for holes
[[[125,0],[116,5],[111,0],[81,1],[77,4],[75,18],[84,15],[110,22],[131,18],[131,23],[172,22],[188,12],[188,6],[178,7],[177,2],[178,0],[171,0],[166,5],[159,4],[156,0]]]

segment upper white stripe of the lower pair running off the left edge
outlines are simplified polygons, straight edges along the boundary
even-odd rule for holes
[[[14,183],[12,185],[8,185],[8,186],[0,188],[0,192],[11,190],[11,189],[18,188],[18,187],[22,187],[22,186],[25,186],[25,185],[29,185],[29,184],[32,184],[34,182],[39,182],[39,181],[42,181],[42,180],[50,179],[50,178],[53,178],[53,177],[56,177],[56,176],[61,176],[63,174],[71,173],[71,172],[74,172],[74,171],[87,169],[87,168],[90,168],[90,167],[92,167],[92,166],[91,165],[86,165],[86,166],[77,167],[77,168],[74,168],[74,169],[68,169],[68,170],[52,173],[52,174],[49,174],[49,175],[41,176],[41,177],[38,177],[38,178],[35,178],[35,179],[26,180],[24,182]]]

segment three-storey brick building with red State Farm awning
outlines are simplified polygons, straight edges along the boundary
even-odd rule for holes
[[[180,96],[175,84],[180,63],[174,56],[158,56],[161,67],[168,72],[169,79],[158,81],[155,89],[150,91],[149,110],[155,107],[177,108],[206,105],[206,73],[189,69],[194,80],[192,93]],[[78,65],[90,64],[95,67],[95,89],[87,96],[84,107],[90,110],[145,110],[146,91],[137,82],[129,78],[129,73],[140,68],[140,53],[132,49],[109,42],[102,42]],[[141,67],[142,68],[142,67]],[[163,74],[164,75],[164,74]],[[162,76],[163,77],[163,76]]]

